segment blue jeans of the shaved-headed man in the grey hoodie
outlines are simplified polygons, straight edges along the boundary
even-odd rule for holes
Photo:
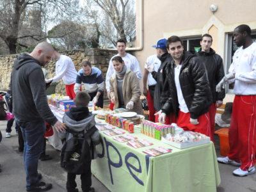
[[[44,146],[45,122],[28,122],[16,119],[24,139],[24,166],[26,189],[34,189],[38,184],[38,159]]]

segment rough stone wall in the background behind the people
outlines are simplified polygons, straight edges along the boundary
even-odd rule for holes
[[[105,79],[109,60],[114,54],[116,54],[116,51],[109,51],[104,49],[83,49],[65,51],[61,52],[61,54],[65,54],[72,59],[77,71],[81,69],[82,61],[90,61],[93,67],[98,67],[102,71],[103,77]],[[10,76],[13,68],[13,61],[16,58],[16,54],[0,56],[0,90],[8,89],[8,84],[10,83]],[[47,78],[51,78],[55,75],[55,63],[56,61],[51,61],[51,63],[48,63],[45,66],[46,70],[48,71]],[[63,84],[62,80],[60,80],[56,86],[56,93],[65,94],[65,85]],[[104,97],[106,98],[106,93],[104,94]]]

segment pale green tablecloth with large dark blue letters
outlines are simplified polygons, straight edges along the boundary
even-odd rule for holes
[[[97,120],[99,123],[99,120]],[[102,121],[104,123],[104,121]],[[118,128],[117,128],[118,129]],[[220,184],[220,172],[213,143],[179,149],[155,140],[135,129],[133,136],[154,145],[132,148],[103,134],[97,146],[100,157],[92,161],[92,173],[112,192],[174,191],[211,192]],[[142,150],[172,148],[172,152],[150,157]]]

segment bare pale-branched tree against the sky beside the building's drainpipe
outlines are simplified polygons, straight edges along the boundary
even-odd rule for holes
[[[87,10],[84,15],[93,15],[91,19],[98,26],[100,45],[109,47],[116,45],[118,38],[128,42],[134,40],[136,34],[134,0],[84,0]],[[100,7],[100,10],[99,10]]]

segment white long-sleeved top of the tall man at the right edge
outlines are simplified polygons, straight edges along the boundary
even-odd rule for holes
[[[246,49],[240,47],[233,56],[228,72],[235,73],[234,93],[256,95],[256,43]]]

